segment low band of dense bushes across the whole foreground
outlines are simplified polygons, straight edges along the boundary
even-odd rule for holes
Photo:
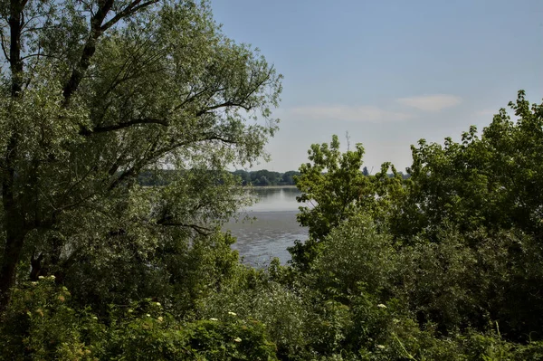
[[[504,261],[508,242],[519,242],[508,234],[479,234],[477,250],[453,231],[401,247],[354,218],[319,244],[305,274],[277,261],[260,271],[236,266],[219,288],[200,292],[184,318],[151,299],[96,314],[52,278],[25,282],[0,327],[2,357],[537,360],[538,335],[514,343],[515,334],[502,331],[508,322],[538,324],[536,312],[525,316],[533,308],[507,307],[506,297],[527,286],[510,282],[521,280],[522,267]]]

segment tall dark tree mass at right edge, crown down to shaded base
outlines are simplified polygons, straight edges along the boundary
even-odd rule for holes
[[[520,90],[509,106],[517,121],[500,109],[480,134],[471,127],[461,142],[413,146],[405,197],[388,223],[414,247],[416,261],[404,261],[414,274],[403,283],[414,282],[424,318],[440,327],[499,319],[503,335],[527,341],[543,330],[543,104],[530,105]]]

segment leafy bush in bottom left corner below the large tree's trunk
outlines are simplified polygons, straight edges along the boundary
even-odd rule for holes
[[[88,341],[100,327],[90,313],[71,308],[70,296],[51,277],[14,289],[0,326],[0,359],[92,359]]]

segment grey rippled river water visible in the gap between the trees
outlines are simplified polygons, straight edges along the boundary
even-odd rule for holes
[[[287,247],[295,240],[305,241],[308,237],[307,228],[296,222],[300,206],[296,196],[300,191],[295,187],[257,187],[255,192],[259,202],[244,214],[256,220],[231,221],[224,225],[224,230],[237,238],[232,248],[240,252],[244,263],[262,267],[278,257],[284,264],[291,259]]]

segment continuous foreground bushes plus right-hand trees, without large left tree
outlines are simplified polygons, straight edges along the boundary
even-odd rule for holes
[[[543,140],[543,113],[523,93],[513,108],[481,138],[421,142],[408,179],[359,177],[363,149],[342,156],[337,138],[312,147],[300,201],[319,206],[287,266],[243,266],[220,232],[150,249],[110,234],[62,279],[22,277],[0,359],[540,360],[543,152],[519,144]],[[505,175],[504,159],[529,169]]]

